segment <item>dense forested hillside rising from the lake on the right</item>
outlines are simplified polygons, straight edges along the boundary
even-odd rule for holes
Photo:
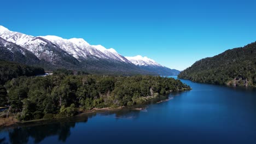
[[[195,82],[256,87],[256,43],[203,58],[178,77]]]

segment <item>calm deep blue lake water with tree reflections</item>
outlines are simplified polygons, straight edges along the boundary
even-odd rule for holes
[[[0,143],[256,143],[256,91],[182,80],[193,90],[144,106],[0,131]]]

